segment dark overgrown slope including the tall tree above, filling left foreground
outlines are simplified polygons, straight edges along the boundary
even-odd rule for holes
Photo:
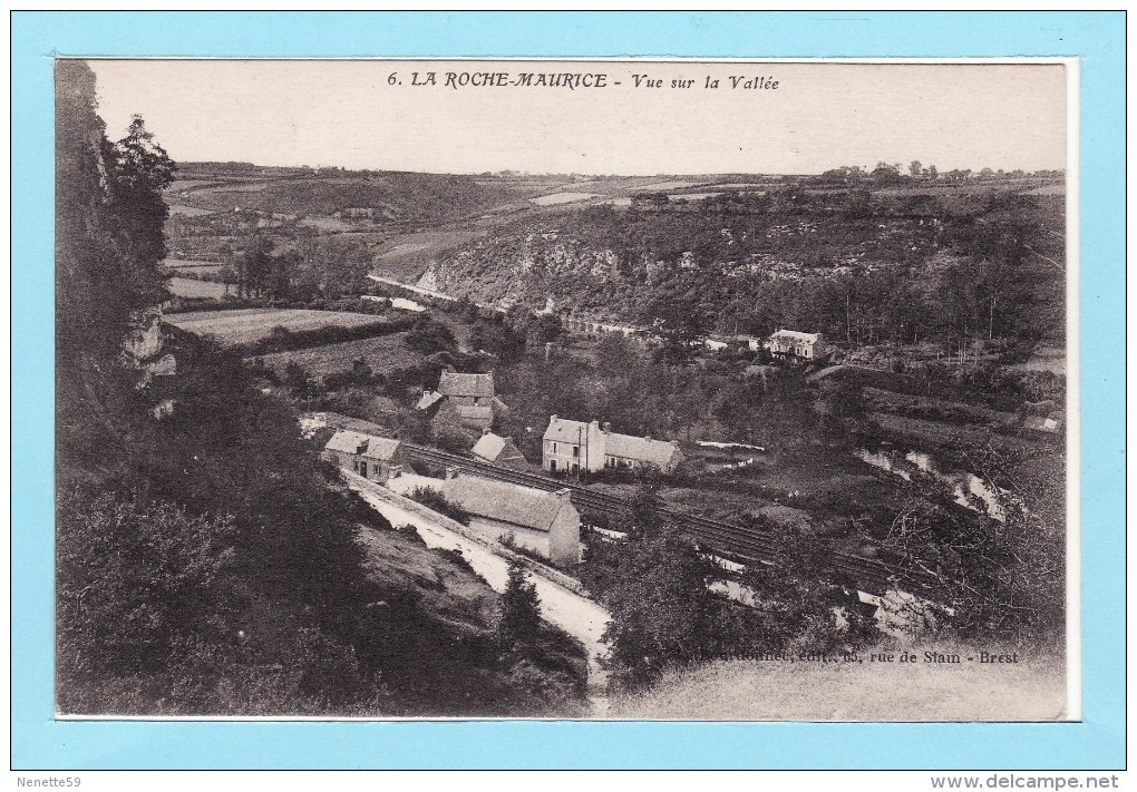
[[[106,139],[84,64],[57,87],[59,710],[576,711],[579,647],[507,645],[499,598],[341,486],[238,351],[155,333],[174,166],[141,119]]]

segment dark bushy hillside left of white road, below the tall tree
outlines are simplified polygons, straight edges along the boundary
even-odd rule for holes
[[[514,681],[495,642],[499,598],[468,566],[395,531],[340,485],[300,440],[296,415],[255,392],[236,353],[180,332],[161,351],[177,359],[177,374],[155,380],[121,411],[105,406],[97,451],[63,439],[64,711],[575,711],[586,673],[579,647],[549,632],[536,668]],[[173,414],[156,420],[144,409],[150,400],[168,400]],[[130,525],[135,510],[146,520],[153,508],[213,523],[182,536],[180,519],[171,520],[174,544],[159,551],[158,567],[135,540],[108,545],[97,536],[108,522]],[[193,589],[166,565],[201,569]],[[117,594],[107,591],[94,609],[91,594],[78,593],[108,589]],[[191,599],[179,605],[183,597]],[[190,602],[194,616],[183,622],[176,615]],[[99,618],[107,614],[116,618]],[[227,656],[234,635],[239,651]],[[92,637],[109,667],[78,664]],[[149,647],[146,670],[127,673],[135,651],[127,647],[138,642]],[[196,650],[182,652],[186,642]],[[157,694],[179,675],[192,680],[190,690]]]

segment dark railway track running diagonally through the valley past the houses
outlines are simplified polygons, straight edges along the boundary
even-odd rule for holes
[[[573,505],[586,514],[622,517],[626,515],[630,506],[623,498],[596,492],[572,482],[514,470],[423,445],[406,443],[405,448],[412,460],[417,459],[435,467],[456,467],[488,478],[511,484],[521,484],[547,492],[568,490]],[[700,544],[705,544],[706,549],[716,550],[744,561],[778,564],[781,560],[775,537],[766,532],[707,517],[699,517],[698,515],[679,511],[671,507],[664,507],[659,509],[659,512],[680,531],[692,536]],[[921,582],[920,575],[883,561],[860,558],[832,550],[824,550],[822,553],[822,561],[833,569],[835,573],[850,577],[860,589],[870,593],[885,593],[894,586],[897,580],[904,580],[907,587],[912,587],[913,584],[919,585]]]

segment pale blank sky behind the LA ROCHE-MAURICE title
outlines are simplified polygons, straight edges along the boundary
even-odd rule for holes
[[[621,175],[810,174],[912,160],[941,172],[1065,167],[1062,65],[90,62],[108,135],[121,137],[141,114],[175,161]],[[413,73],[435,82],[413,85]],[[447,73],[507,73],[509,82],[603,74],[605,85],[453,87]],[[694,82],[672,87],[683,80]]]

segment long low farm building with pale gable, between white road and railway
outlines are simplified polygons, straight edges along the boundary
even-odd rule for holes
[[[554,564],[580,562],[580,512],[570,491],[546,492],[447,470],[446,499],[471,516],[470,526],[501,537]]]

